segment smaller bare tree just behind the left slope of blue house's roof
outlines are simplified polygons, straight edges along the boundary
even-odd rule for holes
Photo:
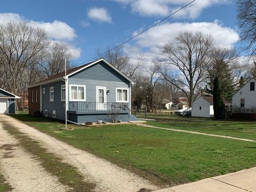
[[[46,57],[39,63],[42,78],[51,77],[65,70],[65,57],[67,58],[67,69],[73,68],[70,59],[73,57],[69,47],[65,43],[55,42],[51,45]]]

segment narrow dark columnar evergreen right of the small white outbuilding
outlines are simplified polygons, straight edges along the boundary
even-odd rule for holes
[[[225,110],[225,104],[222,100],[220,82],[219,82],[218,76],[214,78],[213,110],[214,110],[214,118],[215,119],[220,119],[223,117],[223,111]]]

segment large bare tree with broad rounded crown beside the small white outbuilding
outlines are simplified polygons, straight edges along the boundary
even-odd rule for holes
[[[194,100],[196,86],[207,75],[212,47],[211,35],[185,31],[176,37],[175,44],[165,44],[162,52],[164,59],[158,58],[154,61],[166,81],[178,87],[187,96],[189,107]],[[179,78],[173,78],[174,72]]]

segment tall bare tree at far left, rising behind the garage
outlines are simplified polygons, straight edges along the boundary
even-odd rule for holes
[[[29,27],[25,22],[0,25],[1,81],[8,91],[18,94],[26,69],[45,56],[49,43],[44,30]]]

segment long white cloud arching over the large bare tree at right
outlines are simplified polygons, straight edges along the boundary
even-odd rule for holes
[[[239,40],[238,33],[231,28],[223,27],[220,22],[192,22],[192,23],[164,23],[158,25],[141,34],[130,44],[124,46],[124,51],[133,60],[139,52],[143,52],[147,62],[151,62],[156,55],[159,55],[165,43],[175,43],[175,37],[180,31],[202,31],[211,34],[214,38],[215,46],[231,47]],[[133,35],[138,34],[134,31]]]

